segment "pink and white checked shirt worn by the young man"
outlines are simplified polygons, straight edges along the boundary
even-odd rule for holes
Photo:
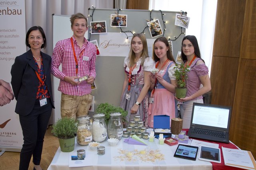
[[[83,77],[89,75],[95,78],[96,47],[94,44],[84,39],[84,44],[80,49],[74,36],[72,36],[72,38],[74,42],[76,58],[78,61],[78,75],[76,75],[76,61],[74,58],[70,38],[60,40],[56,43],[52,53],[51,72],[55,77],[60,79],[60,84],[58,87],[60,92],[68,95],[83,96],[91,93],[91,85],[86,81],[82,81],[78,85],[72,85],[64,81],[64,76]],[[83,50],[83,55],[78,59]],[[88,61],[83,60],[83,57],[85,56],[89,57]],[[62,71],[59,69],[60,64],[62,64]]]

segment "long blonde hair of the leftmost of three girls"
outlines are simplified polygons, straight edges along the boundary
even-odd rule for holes
[[[133,37],[132,37],[132,40],[134,39],[134,37],[138,37],[142,44],[143,44],[143,50],[142,50],[142,53],[141,53],[141,58],[142,58],[142,61],[141,61],[141,64],[143,66],[144,64],[144,61],[148,56],[148,44],[147,44],[147,40],[146,40],[146,37],[144,34],[134,34]],[[130,52],[129,52],[129,59],[130,59],[130,62],[128,64],[129,67],[131,67],[134,63],[135,63],[135,53],[134,51],[132,51],[132,40],[131,40],[131,48],[130,48]]]

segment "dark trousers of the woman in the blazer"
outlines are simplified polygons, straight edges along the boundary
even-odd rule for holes
[[[33,163],[35,165],[40,165],[44,135],[51,113],[52,105],[50,103],[50,98],[47,98],[46,105],[41,107],[39,100],[36,100],[31,113],[26,116],[19,115],[24,140],[20,152],[19,170],[28,170],[32,155]]]

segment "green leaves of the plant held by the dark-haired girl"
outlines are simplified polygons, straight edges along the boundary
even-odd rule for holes
[[[176,77],[176,82],[178,85],[178,88],[186,88],[186,82],[185,80],[187,80],[187,76],[188,76],[188,72],[189,72],[189,66],[188,65],[184,65],[181,64],[180,66],[178,66],[178,64],[175,64],[175,71],[174,71],[174,76]]]

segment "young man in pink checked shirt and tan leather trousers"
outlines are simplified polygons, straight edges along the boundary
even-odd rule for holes
[[[60,79],[61,117],[87,115],[92,103],[91,84],[96,76],[96,47],[84,38],[87,18],[77,13],[70,17],[73,35],[56,43],[52,54],[52,74]],[[62,64],[62,71],[59,69]],[[81,78],[87,79],[81,81]]]

